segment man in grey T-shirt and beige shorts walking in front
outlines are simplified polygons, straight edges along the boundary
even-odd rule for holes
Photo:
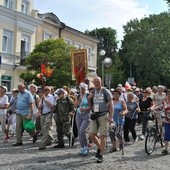
[[[93,84],[95,89],[89,95],[89,102],[98,118],[90,122],[90,137],[98,147],[95,155],[97,163],[102,163],[102,155],[106,146],[107,123],[113,122],[113,100],[110,91],[101,86],[100,77],[94,77]],[[99,129],[100,139],[97,136]]]

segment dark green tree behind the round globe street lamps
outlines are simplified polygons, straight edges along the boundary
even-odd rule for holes
[[[112,28],[96,28],[92,31],[86,30],[85,33],[92,37],[95,37],[100,40],[98,44],[98,57],[97,57],[97,73],[102,77],[102,61],[109,57],[113,60],[113,64],[110,68],[105,68],[106,74],[111,74],[112,76],[112,85],[115,86],[117,83],[121,83],[124,79],[123,70],[121,69],[121,62],[117,56],[117,43],[116,41],[116,31]],[[105,50],[106,54],[100,56],[100,51]],[[117,76],[116,76],[117,75]],[[119,75],[119,76],[118,76]],[[118,82],[119,81],[119,82]]]

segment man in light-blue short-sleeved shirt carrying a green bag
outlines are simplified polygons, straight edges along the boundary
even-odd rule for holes
[[[16,138],[17,141],[13,146],[22,145],[23,122],[32,118],[33,114],[33,97],[31,93],[25,88],[24,83],[18,85],[18,99],[17,99],[17,114],[16,114]],[[33,143],[37,140],[37,133],[30,132],[33,137]]]

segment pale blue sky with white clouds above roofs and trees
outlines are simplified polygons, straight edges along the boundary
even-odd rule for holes
[[[82,32],[111,27],[120,41],[128,21],[168,11],[168,6],[165,0],[34,0],[34,9],[53,12],[61,22]]]

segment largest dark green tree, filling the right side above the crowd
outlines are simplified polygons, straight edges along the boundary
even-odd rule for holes
[[[119,51],[124,68],[138,85],[170,85],[170,15],[161,13],[124,26],[124,40]]]

